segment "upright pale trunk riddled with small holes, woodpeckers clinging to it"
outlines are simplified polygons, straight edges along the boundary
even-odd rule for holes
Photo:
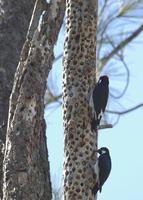
[[[93,200],[97,133],[89,99],[95,81],[97,0],[67,0],[64,45],[64,199]]]

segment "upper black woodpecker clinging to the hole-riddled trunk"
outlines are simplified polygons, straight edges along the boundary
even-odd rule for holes
[[[103,113],[108,101],[109,95],[109,79],[108,76],[101,76],[99,81],[95,85],[92,93],[92,104],[93,104],[93,119],[91,123],[91,129],[95,130],[100,124]]]

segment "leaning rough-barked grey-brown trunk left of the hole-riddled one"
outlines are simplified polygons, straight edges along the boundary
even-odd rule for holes
[[[53,0],[30,45],[24,45],[10,98],[3,200],[51,199],[44,93],[64,8],[65,1]]]

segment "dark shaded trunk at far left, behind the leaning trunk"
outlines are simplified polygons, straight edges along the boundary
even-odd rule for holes
[[[0,199],[9,96],[35,0],[0,0]]]

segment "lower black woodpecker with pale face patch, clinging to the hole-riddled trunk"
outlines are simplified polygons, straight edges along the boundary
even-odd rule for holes
[[[94,166],[94,172],[96,174],[96,180],[97,180],[93,188],[94,195],[96,195],[98,190],[101,192],[102,186],[107,180],[111,171],[111,158],[108,148],[102,147],[101,149],[98,149],[97,152],[100,155]]]

